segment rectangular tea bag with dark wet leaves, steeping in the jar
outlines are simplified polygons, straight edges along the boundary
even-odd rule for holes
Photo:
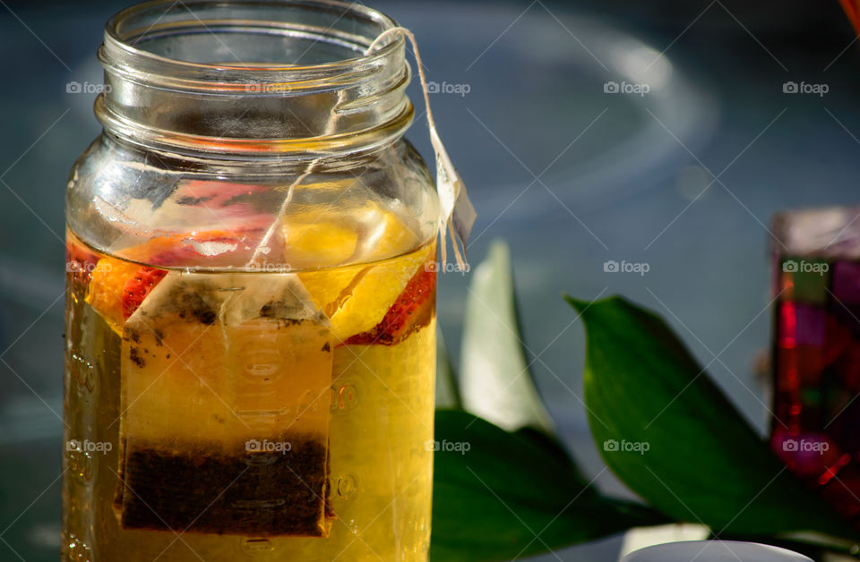
[[[125,324],[125,529],[327,536],[334,344],[295,275],[169,273]]]

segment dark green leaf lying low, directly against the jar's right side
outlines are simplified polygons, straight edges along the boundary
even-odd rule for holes
[[[434,562],[510,560],[666,522],[647,507],[601,496],[539,430],[508,432],[438,410],[435,431]]]

